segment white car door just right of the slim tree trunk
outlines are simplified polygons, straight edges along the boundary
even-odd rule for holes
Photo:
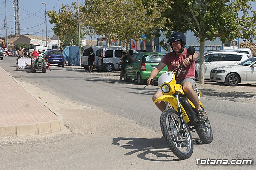
[[[219,67],[219,53],[209,54],[204,56],[204,78],[210,79],[210,72],[213,68]]]

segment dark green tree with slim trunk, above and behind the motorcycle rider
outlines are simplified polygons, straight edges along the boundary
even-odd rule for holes
[[[248,27],[253,23],[255,25],[255,15],[251,20],[244,20],[248,18],[247,11],[251,10],[249,2],[250,0],[167,0],[164,3],[162,17],[169,18],[166,28],[180,32],[191,30],[200,42],[200,83],[204,83],[203,56],[206,40],[220,38],[224,42],[235,38],[250,39],[249,34],[255,37],[255,32]],[[244,15],[239,17],[239,12]]]

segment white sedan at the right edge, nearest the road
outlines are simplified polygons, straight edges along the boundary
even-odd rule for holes
[[[238,65],[217,67],[211,70],[210,80],[218,84],[237,86],[238,83],[256,83],[256,57],[246,59]]]

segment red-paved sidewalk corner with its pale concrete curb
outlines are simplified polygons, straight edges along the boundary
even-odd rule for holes
[[[63,129],[61,115],[48,109],[0,67],[0,137],[49,134]]]

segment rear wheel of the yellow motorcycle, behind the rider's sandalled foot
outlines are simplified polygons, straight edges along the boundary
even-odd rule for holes
[[[209,119],[206,119],[204,122],[202,122],[201,125],[196,127],[196,133],[205,144],[212,142],[212,127],[210,125]]]

